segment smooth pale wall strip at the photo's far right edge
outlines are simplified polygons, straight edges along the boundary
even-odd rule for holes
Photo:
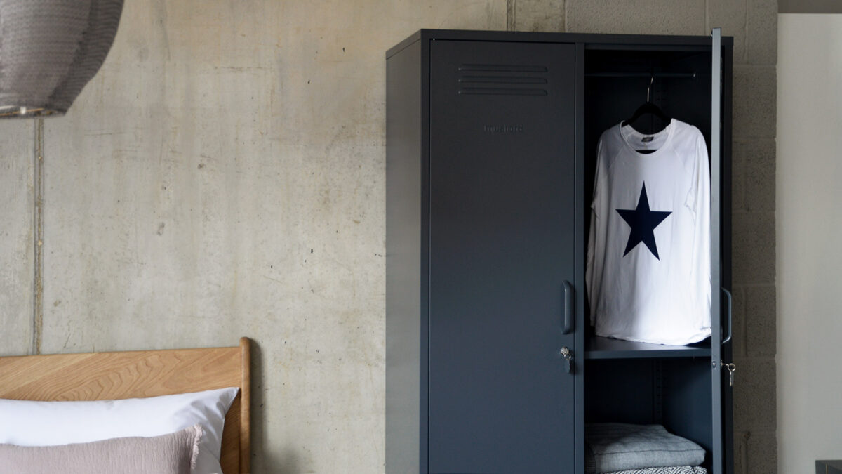
[[[812,472],[842,458],[842,15],[781,14],[780,24],[778,465]]]

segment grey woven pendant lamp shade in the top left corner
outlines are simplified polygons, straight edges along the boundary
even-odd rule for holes
[[[123,0],[0,0],[0,117],[63,115],[97,73]]]

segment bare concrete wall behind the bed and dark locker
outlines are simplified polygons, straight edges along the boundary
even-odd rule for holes
[[[44,121],[42,180],[36,124],[0,124],[0,352],[253,337],[254,470],[382,471],[386,48],[418,28],[722,25],[737,43],[738,472],[774,472],[775,12],[769,0],[126,2],[102,71]]]

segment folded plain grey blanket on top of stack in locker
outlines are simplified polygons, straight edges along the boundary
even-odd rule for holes
[[[690,439],[670,434],[658,424],[588,423],[584,433],[589,472],[699,466],[705,461],[704,448]],[[660,471],[642,472],[660,474]]]

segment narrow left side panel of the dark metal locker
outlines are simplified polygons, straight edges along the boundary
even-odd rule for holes
[[[416,41],[386,60],[386,472],[390,473],[418,472],[426,463],[421,50]]]

